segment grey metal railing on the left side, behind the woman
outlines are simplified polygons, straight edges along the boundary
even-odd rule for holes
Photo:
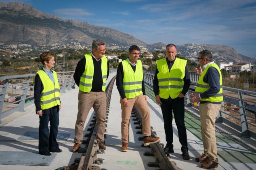
[[[74,71],[57,72],[60,90],[70,90],[75,85]],[[0,123],[1,119],[34,104],[35,74],[23,74],[0,77]]]

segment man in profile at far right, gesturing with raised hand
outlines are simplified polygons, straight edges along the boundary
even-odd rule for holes
[[[212,61],[212,53],[210,51],[201,51],[198,56],[198,62],[200,63],[200,68],[195,69],[195,72],[200,78],[195,88],[196,94],[191,98],[191,102],[200,101],[199,111],[204,154],[199,158],[195,158],[195,161],[204,162],[201,164],[201,168],[217,168],[218,157],[214,123],[223,100],[222,75],[219,67]]]

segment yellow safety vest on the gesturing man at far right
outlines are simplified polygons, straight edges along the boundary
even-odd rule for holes
[[[197,86],[195,88],[195,92],[197,93],[203,93],[205,91],[207,91],[208,89],[210,89],[209,84],[204,82],[204,76],[207,72],[207,70],[210,67],[214,67],[218,70],[219,74],[220,74],[220,91],[215,94],[214,96],[208,97],[208,98],[201,98],[199,101],[209,101],[209,102],[222,102],[223,101],[223,96],[222,96],[222,75],[220,72],[220,69],[218,67],[218,65],[216,63],[210,64],[209,66],[207,66],[203,73],[201,74],[201,76],[199,77],[199,80],[197,82]]]

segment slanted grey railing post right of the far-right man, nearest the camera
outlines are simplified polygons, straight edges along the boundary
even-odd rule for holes
[[[241,136],[250,137],[249,127],[248,127],[247,118],[246,118],[246,109],[244,109],[242,93],[238,92],[238,96],[239,96],[239,110],[240,110],[241,127],[242,127]]]

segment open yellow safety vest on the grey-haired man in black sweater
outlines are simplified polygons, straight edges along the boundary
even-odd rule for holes
[[[85,62],[85,69],[84,73],[80,78],[79,83],[79,90],[82,92],[90,92],[92,90],[92,80],[94,74],[94,66],[92,60],[92,54],[88,53],[84,55],[86,62]],[[101,58],[101,73],[102,73],[102,91],[105,92],[106,90],[106,80],[107,80],[107,57],[103,55]]]

